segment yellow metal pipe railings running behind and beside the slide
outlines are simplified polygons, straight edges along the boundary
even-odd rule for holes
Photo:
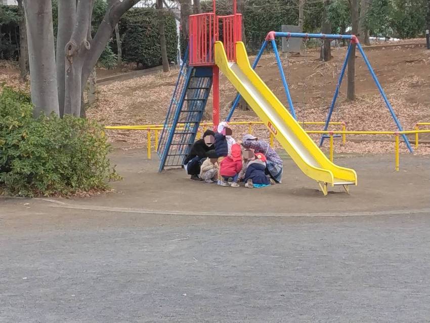
[[[252,125],[263,125],[263,122],[253,121],[253,122],[230,122],[229,125],[248,125],[248,133],[252,133]],[[324,125],[324,122],[300,122],[300,125]],[[430,134],[429,130],[419,130],[419,127],[422,126],[430,126],[430,123],[417,123],[415,126],[415,130],[412,131],[347,131],[345,123],[341,122],[333,122],[330,123],[332,126],[341,126],[341,131],[319,131],[319,130],[307,130],[308,134],[320,134],[320,135],[329,135],[329,157],[333,162],[334,159],[334,135],[341,135],[342,143],[346,143],[347,135],[390,135],[395,136],[395,170],[399,171],[400,169],[400,136],[401,135],[415,135],[415,147],[418,148],[418,136],[419,134]],[[201,129],[198,132],[197,138],[200,138],[201,133],[204,132],[209,127],[212,127],[211,123],[201,123]],[[158,134],[159,131],[163,130],[163,125],[142,125],[142,126],[106,126],[107,130],[141,130],[147,132],[147,158],[151,159],[151,150],[152,150],[152,142],[151,142],[151,132],[154,132],[154,148],[158,150]],[[270,134],[270,145],[273,146],[273,135]]]

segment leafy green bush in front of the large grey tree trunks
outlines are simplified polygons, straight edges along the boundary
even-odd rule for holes
[[[0,190],[18,196],[107,188],[113,174],[101,126],[71,115],[32,116],[27,94],[0,94]]]

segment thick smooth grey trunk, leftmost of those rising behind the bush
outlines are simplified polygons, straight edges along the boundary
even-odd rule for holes
[[[34,115],[59,113],[51,0],[24,0]]]

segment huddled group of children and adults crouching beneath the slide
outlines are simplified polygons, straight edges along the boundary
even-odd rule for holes
[[[225,122],[217,133],[206,130],[203,139],[193,144],[184,168],[193,180],[231,187],[243,181],[248,188],[280,183],[283,172],[282,159],[269,144],[252,135],[238,144]]]

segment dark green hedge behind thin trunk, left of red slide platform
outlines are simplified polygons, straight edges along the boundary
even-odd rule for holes
[[[175,18],[165,17],[165,35],[169,62],[176,61],[178,35]],[[122,57],[125,61],[136,62],[143,68],[161,64],[160,35],[155,9],[136,8],[128,11],[119,21],[122,37]]]

